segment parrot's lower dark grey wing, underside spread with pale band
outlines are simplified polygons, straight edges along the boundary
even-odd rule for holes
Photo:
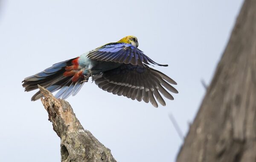
[[[150,101],[155,107],[158,106],[156,99],[161,105],[166,105],[160,93],[170,100],[174,98],[167,90],[178,93],[170,85],[177,84],[174,80],[147,65],[141,67],[122,64],[120,67],[106,71],[96,77],[95,83],[99,88],[112,92],[114,95],[126,96],[132,100],[143,100],[146,103]]]

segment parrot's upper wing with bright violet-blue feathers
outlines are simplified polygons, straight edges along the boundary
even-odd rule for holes
[[[146,56],[143,51],[126,43],[109,43],[107,45],[103,45],[102,47],[96,48],[88,53],[87,56],[90,59],[96,59],[98,61],[113,61],[140,66],[144,66],[143,63],[151,63],[158,66],[168,66],[156,63]]]

